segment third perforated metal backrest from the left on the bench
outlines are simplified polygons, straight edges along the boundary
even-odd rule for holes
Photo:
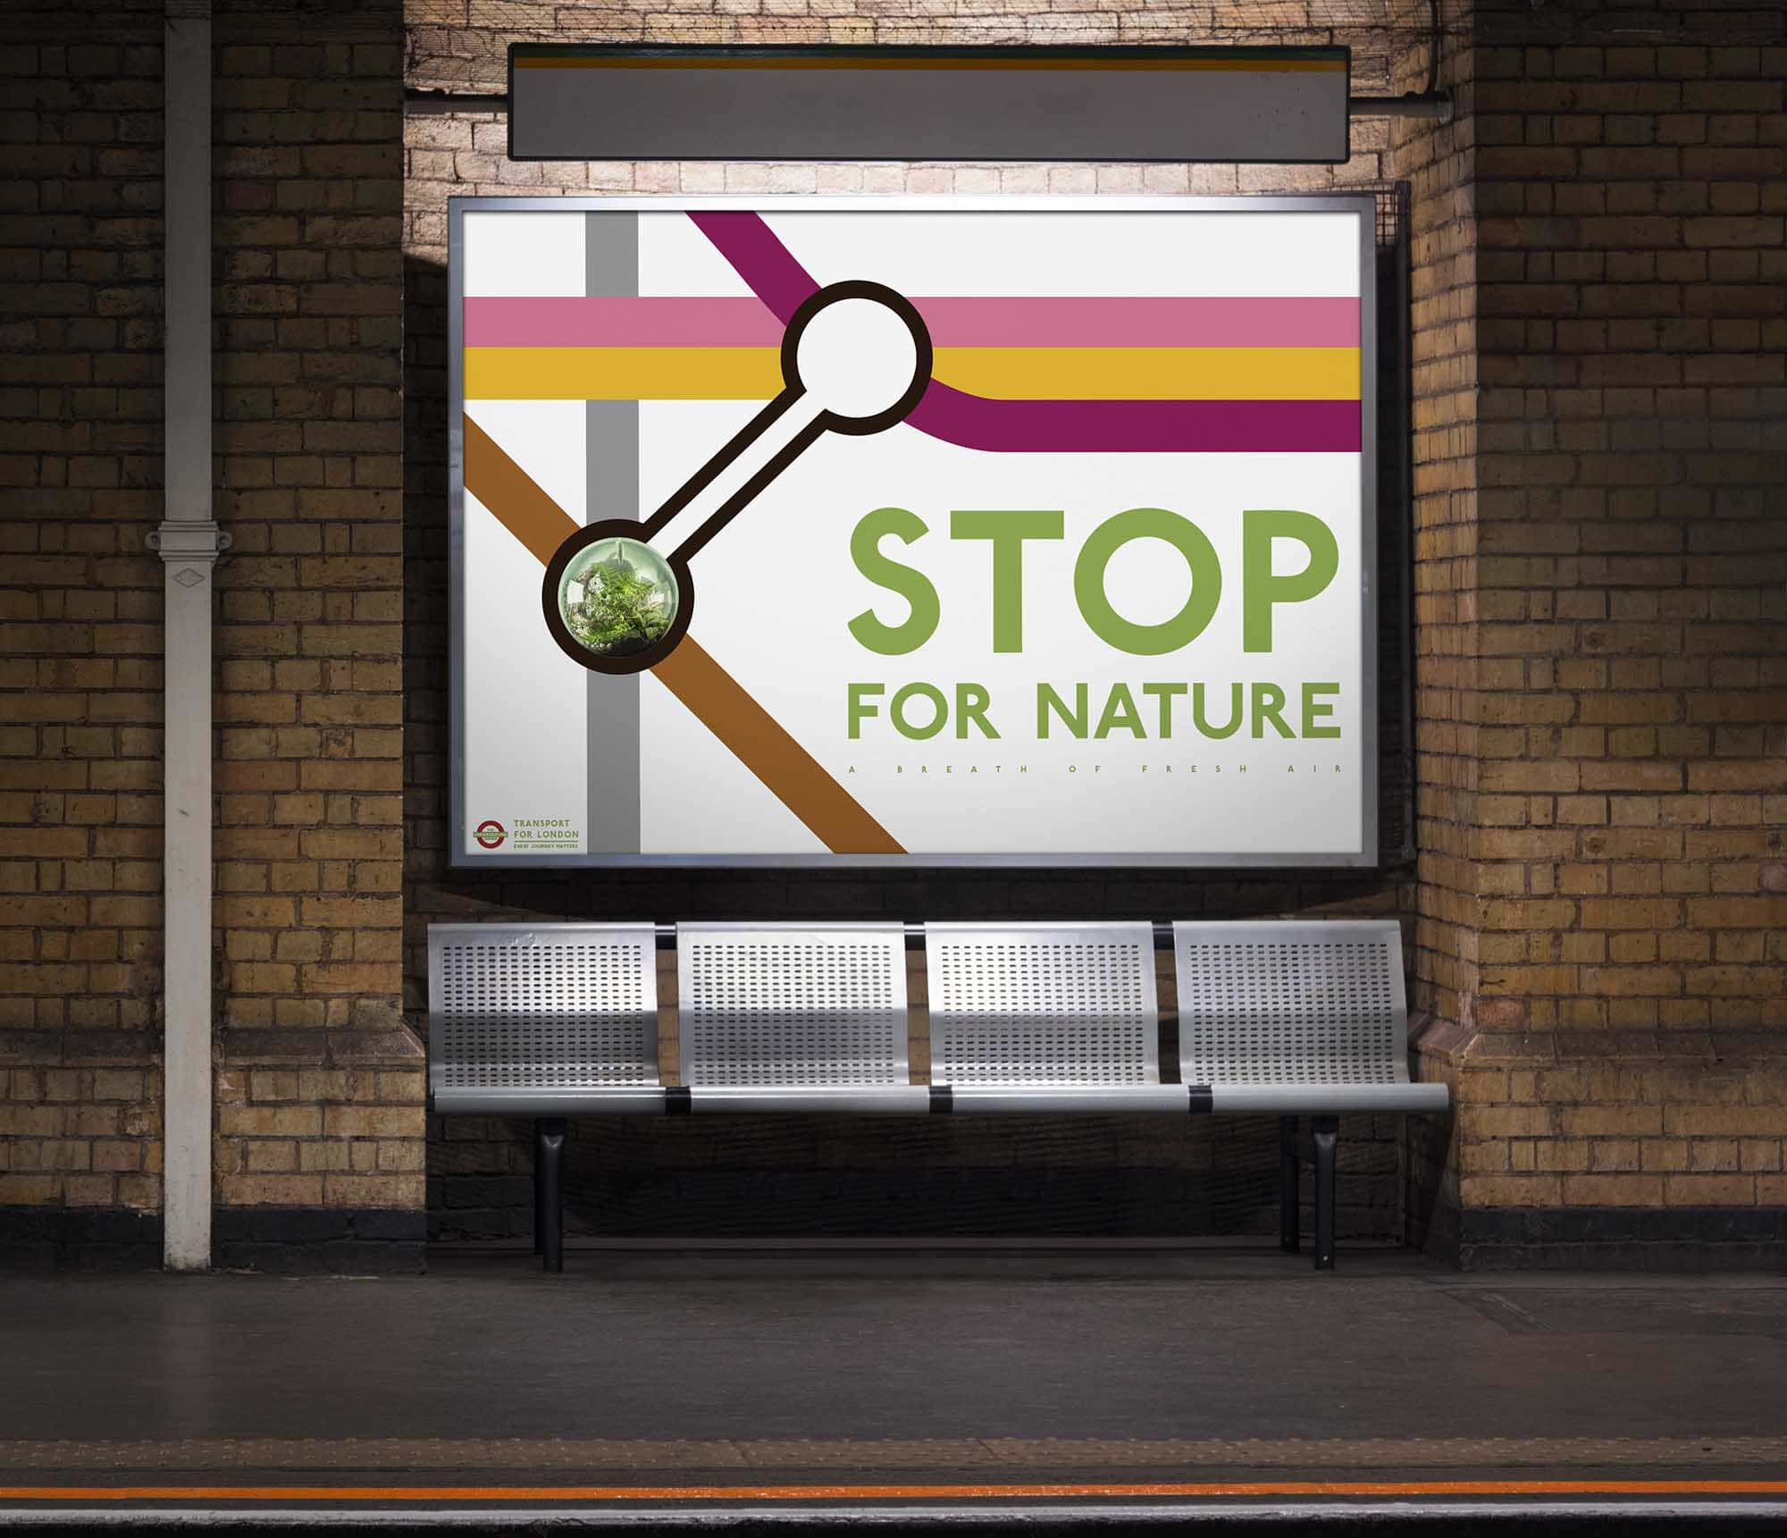
[[[924,930],[933,1084],[1158,1084],[1147,923]]]

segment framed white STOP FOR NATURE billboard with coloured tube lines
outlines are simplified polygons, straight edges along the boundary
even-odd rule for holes
[[[454,862],[1374,864],[1372,215],[456,199]]]

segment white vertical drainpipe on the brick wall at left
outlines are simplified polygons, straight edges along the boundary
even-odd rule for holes
[[[163,853],[163,1264],[211,1266],[211,4],[168,0],[166,574]]]

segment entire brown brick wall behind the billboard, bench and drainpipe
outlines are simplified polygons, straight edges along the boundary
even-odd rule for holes
[[[216,572],[225,1259],[272,1261],[298,1227],[341,1263],[413,1259],[422,1061],[404,1009],[427,921],[640,912],[1397,912],[1422,1073],[1453,1084],[1458,1112],[1347,1127],[1356,1232],[1397,1230],[1406,1166],[1419,1232],[1467,1263],[1778,1257],[1780,9],[1447,7],[1456,118],[1356,123],[1360,154],[1335,172],[509,165],[495,118],[402,118],[406,80],[500,89],[511,36],[1346,41],[1358,91],[1419,88],[1428,68],[1424,7],[1369,25],[1344,5],[788,13],[411,0],[407,34],[397,0],[218,14],[216,485],[236,540]],[[11,13],[0,52],[0,1211],[36,1214],[16,1232],[57,1259],[80,1214],[111,1214],[88,1232],[141,1257],[154,1218],[132,1214],[159,1204],[161,567],[143,549],[161,517],[159,32],[159,7],[82,0]],[[447,869],[447,195],[1387,177],[1412,190],[1415,871]],[[672,1187],[724,1216],[727,1168],[770,1186],[849,1170],[874,1195],[901,1171],[947,1187],[1003,1162],[1069,1171],[1049,1177],[1063,1211],[1088,1171],[1135,1189],[1154,1171],[1145,1221],[1185,1216],[1208,1171],[1235,1170],[1237,1205],[1194,1221],[1269,1221],[1271,1150],[1247,1128],[1163,1150],[1120,1130],[1011,1145],[949,1128],[922,1136],[967,1141],[920,1146],[881,1125],[665,1127],[583,1132],[586,1216],[649,1214]],[[438,1223],[513,1229],[525,1164],[520,1128],[456,1123],[432,1152]],[[1035,1204],[1042,1186],[1011,1179]]]

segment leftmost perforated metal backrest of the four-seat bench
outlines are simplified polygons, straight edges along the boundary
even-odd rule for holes
[[[650,925],[429,925],[436,1093],[658,1082]]]

